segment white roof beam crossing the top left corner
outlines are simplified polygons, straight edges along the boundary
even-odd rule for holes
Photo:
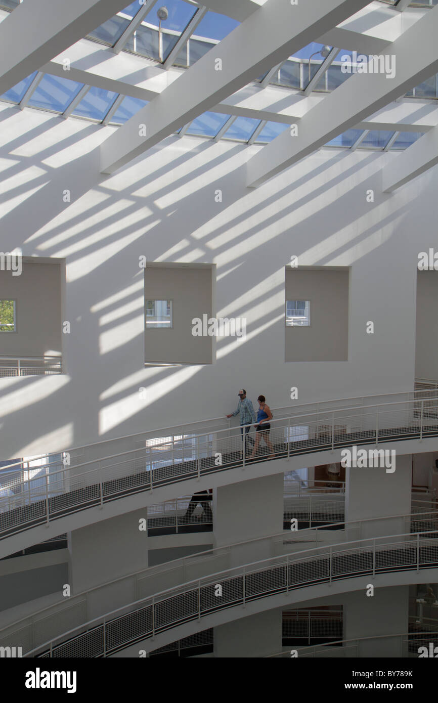
[[[115,15],[125,0],[32,0],[0,24],[0,95]]]

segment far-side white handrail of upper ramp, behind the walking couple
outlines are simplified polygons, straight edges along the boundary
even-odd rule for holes
[[[8,357],[8,358],[11,358],[11,357]],[[58,358],[58,357],[57,357],[57,358]],[[59,357],[59,358],[61,358],[61,357]],[[302,404],[299,404],[299,406],[296,406],[296,407],[297,407],[297,408],[302,408],[302,407],[305,408],[305,407],[307,407],[307,406],[319,406],[319,405],[321,405],[321,404],[332,404],[332,403],[339,403],[339,402],[342,402],[342,401],[349,401],[349,400],[356,400],[356,401],[359,401],[359,399],[362,399],[362,401],[363,401],[363,400],[366,400],[366,399],[369,399],[369,398],[378,398],[378,397],[380,397],[380,396],[411,395],[411,394],[416,394],[416,393],[427,393],[427,392],[430,392],[430,390],[428,391],[428,390],[426,389],[425,391],[416,391],[416,390],[413,390],[413,391],[398,391],[398,392],[393,392],[393,393],[371,394],[371,395],[368,395],[368,396],[367,396],[367,395],[361,395],[361,396],[347,396],[347,397],[345,397],[345,398],[328,399],[328,400],[326,400],[326,401],[325,401],[325,400],[323,400],[323,401],[309,401],[309,403],[302,403]],[[438,393],[438,389],[437,389],[437,393]],[[415,398],[414,398],[414,399],[405,399],[404,401],[399,401],[399,402],[400,402],[400,403],[404,403],[404,402],[411,402],[411,401],[415,401],[415,400],[416,400]],[[428,400],[434,400],[434,398],[431,398],[431,399],[428,399]],[[437,400],[438,400],[438,396],[437,396]],[[385,405],[385,404],[384,404],[384,405]],[[293,407],[294,407],[294,406],[281,406],[281,407],[279,407],[279,408],[273,408],[273,411],[276,412],[276,413],[278,413],[278,412],[285,411],[285,410],[288,410],[289,408],[293,408]],[[360,405],[358,405],[358,406],[345,406],[345,407],[342,406],[342,408],[336,408],[336,409],[337,409],[337,410],[347,410],[347,409],[350,409],[350,408],[351,408],[351,409],[354,410],[354,409],[356,409],[356,408],[372,408],[372,407],[375,407],[375,405],[371,405],[371,406],[368,406],[368,405],[366,405],[366,406],[360,406]],[[335,411],[335,408],[327,408],[327,412],[328,412],[328,411],[331,411],[332,409],[333,409],[333,411]],[[319,412],[318,408],[316,409],[315,412],[316,412],[316,413]],[[314,413],[307,413],[307,415],[309,415],[309,414],[314,414]],[[304,417],[304,415],[301,415],[301,414],[299,414],[298,416],[299,416],[299,417],[302,417],[302,416]],[[291,415],[290,418],[286,417],[286,418],[278,418],[278,419],[280,419],[280,420],[288,420],[288,419],[292,419],[292,417],[293,417],[293,415]],[[44,458],[49,457],[49,456],[52,456],[52,455],[54,455],[54,454],[60,454],[60,453],[65,453],[65,452],[78,451],[79,449],[90,449],[91,447],[98,446],[99,444],[107,444],[108,442],[112,442],[112,441],[121,441],[121,440],[131,439],[131,438],[134,438],[134,437],[141,437],[141,435],[147,434],[148,432],[167,432],[167,431],[169,431],[169,430],[178,430],[179,428],[191,427],[192,425],[200,425],[201,423],[214,423],[214,422],[217,422],[217,420],[226,420],[226,415],[220,415],[220,416],[217,417],[217,418],[207,418],[206,420],[194,420],[194,421],[191,422],[191,423],[181,423],[181,425],[172,425],[172,426],[169,426],[169,427],[157,427],[156,429],[154,428],[154,429],[152,429],[152,430],[143,430],[142,432],[134,432],[134,434],[125,434],[125,435],[122,435],[122,436],[120,436],[120,437],[113,437],[113,438],[111,438],[111,439],[101,439],[101,440],[99,440],[99,441],[92,442],[91,444],[81,444],[81,445],[79,445],[79,446],[70,447],[69,449],[60,449],[59,451],[49,452],[49,454],[40,454],[40,455],[36,455],[36,456],[33,456],[33,457],[32,457],[32,460],[44,459]],[[273,421],[273,420],[272,420],[272,421]],[[250,425],[252,425],[252,424],[253,424],[253,423],[250,423]],[[245,425],[245,427],[246,427],[246,426],[247,426],[247,425]],[[226,427],[224,431],[227,431],[227,430],[228,430],[228,427]],[[214,431],[214,432],[217,432],[218,430],[212,430],[212,432],[213,432],[213,431]],[[207,434],[212,434],[212,432],[207,432]],[[169,432],[169,434],[175,434],[175,433]],[[169,436],[169,435],[163,435],[163,436],[166,437],[166,436]],[[197,435],[193,435],[193,437],[196,437],[196,436],[197,436]],[[154,439],[158,439],[158,438],[154,438]],[[111,456],[116,456],[116,455],[110,455],[110,456],[105,457],[105,458],[110,458]],[[20,463],[21,463],[21,462],[15,462],[15,463],[12,463],[12,464],[8,464],[8,465],[6,465],[6,466],[1,467],[1,470],[9,469],[9,468],[12,468],[12,467],[14,467],[14,466],[19,466]],[[1,470],[0,470],[0,471],[1,471]]]

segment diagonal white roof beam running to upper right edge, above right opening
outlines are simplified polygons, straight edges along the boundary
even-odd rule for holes
[[[392,65],[396,67],[392,78],[378,72],[377,62],[373,64],[376,72],[349,77],[307,112],[297,136],[284,131],[247,162],[247,185],[257,186],[270,179],[437,72],[438,55],[434,47],[437,32],[438,8],[392,44]],[[412,51],[413,46],[421,46],[422,50]]]

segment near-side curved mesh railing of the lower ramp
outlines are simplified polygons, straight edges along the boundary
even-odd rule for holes
[[[332,545],[235,567],[131,603],[66,632],[27,657],[106,657],[218,610],[317,583],[438,567],[438,537],[403,534]]]

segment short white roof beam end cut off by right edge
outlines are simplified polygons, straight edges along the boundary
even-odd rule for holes
[[[392,193],[404,183],[420,176],[438,164],[438,127],[423,134],[382,170],[382,185],[385,193]]]

